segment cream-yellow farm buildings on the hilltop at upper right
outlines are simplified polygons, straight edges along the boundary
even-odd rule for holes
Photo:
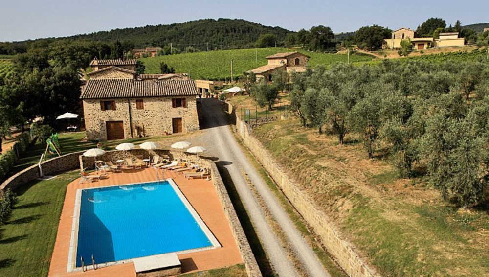
[[[408,28],[400,28],[391,33],[390,39],[384,39],[383,49],[399,49],[402,40],[410,39],[415,50],[425,50],[430,47],[464,46],[464,38],[459,33],[441,33],[438,39],[432,37],[419,38],[417,33]]]

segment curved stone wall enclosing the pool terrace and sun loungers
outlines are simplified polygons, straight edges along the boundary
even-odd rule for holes
[[[83,156],[84,151],[73,152],[61,157],[55,157],[53,159],[44,161],[41,163],[41,168],[43,170],[44,175],[56,174],[68,170],[74,170],[77,168],[83,169],[85,167],[93,168],[94,167],[94,157],[85,157]],[[224,214],[226,219],[231,227],[231,231],[233,233],[234,240],[236,245],[238,246],[239,252],[241,254],[241,258],[243,259],[244,266],[246,268],[246,273],[249,277],[261,277],[262,274],[260,272],[260,268],[258,267],[258,263],[256,262],[255,256],[251,252],[251,247],[246,239],[241,223],[238,219],[236,211],[234,210],[233,204],[229,195],[227,194],[226,187],[222,182],[221,175],[217,169],[217,166],[214,162],[205,159],[204,157],[200,157],[194,154],[187,154],[182,151],[170,151],[170,150],[161,150],[155,149],[151,150],[151,155],[168,155],[172,159],[184,160],[186,162],[197,163],[200,164],[203,168],[208,168],[211,172],[212,182],[216,189],[216,193],[221,202],[222,208],[224,210]],[[137,156],[142,156],[144,158],[148,157],[149,152],[143,149],[133,149],[127,152],[125,151],[107,151],[104,155],[96,157],[97,160],[101,161],[116,161],[122,160],[125,157],[134,158]],[[85,167],[84,167],[85,166]],[[29,166],[28,168],[18,172],[17,174],[8,178],[5,182],[0,185],[0,193],[3,190],[7,190],[11,188],[15,190],[19,186],[35,180],[41,176],[39,172],[38,164]],[[156,176],[155,176],[156,177]]]

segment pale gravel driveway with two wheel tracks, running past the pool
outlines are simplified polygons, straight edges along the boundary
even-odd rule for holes
[[[207,129],[200,138],[202,139],[201,142],[209,146],[209,154],[219,157],[219,160],[224,164],[224,168],[229,172],[274,270],[279,276],[297,275],[294,266],[288,258],[288,253],[273,233],[272,227],[265,218],[265,212],[251,188],[247,185],[241,169],[246,172],[256,191],[266,204],[267,210],[286,234],[289,245],[295,256],[302,263],[303,268],[307,271],[307,274],[309,276],[329,276],[301,233],[295,229],[295,225],[273,193],[268,189],[260,174],[244,156],[227,126],[227,120],[221,112],[220,102],[211,98],[202,99],[202,110],[204,112],[203,125]]]

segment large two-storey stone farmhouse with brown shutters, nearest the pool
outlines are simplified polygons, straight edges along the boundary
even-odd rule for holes
[[[108,66],[87,75],[80,98],[89,140],[199,130],[197,88],[184,74],[138,75]]]

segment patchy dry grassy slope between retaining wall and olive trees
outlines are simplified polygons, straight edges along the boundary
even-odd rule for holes
[[[486,211],[458,211],[422,180],[398,179],[386,162],[368,160],[361,145],[338,145],[296,119],[254,135],[382,275],[488,275]]]

